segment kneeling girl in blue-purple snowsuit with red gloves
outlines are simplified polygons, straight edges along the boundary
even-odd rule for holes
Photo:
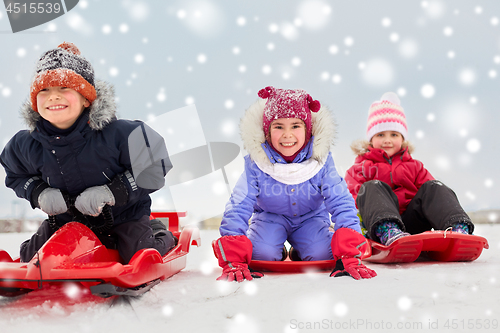
[[[299,260],[337,260],[331,276],[376,276],[361,263],[368,245],[330,153],[331,112],[304,90],[267,87],[258,95],[240,123],[249,153],[245,171],[226,205],[222,237],[213,243],[223,269],[218,280],[261,277],[250,272],[250,261],[283,260],[287,240]]]

